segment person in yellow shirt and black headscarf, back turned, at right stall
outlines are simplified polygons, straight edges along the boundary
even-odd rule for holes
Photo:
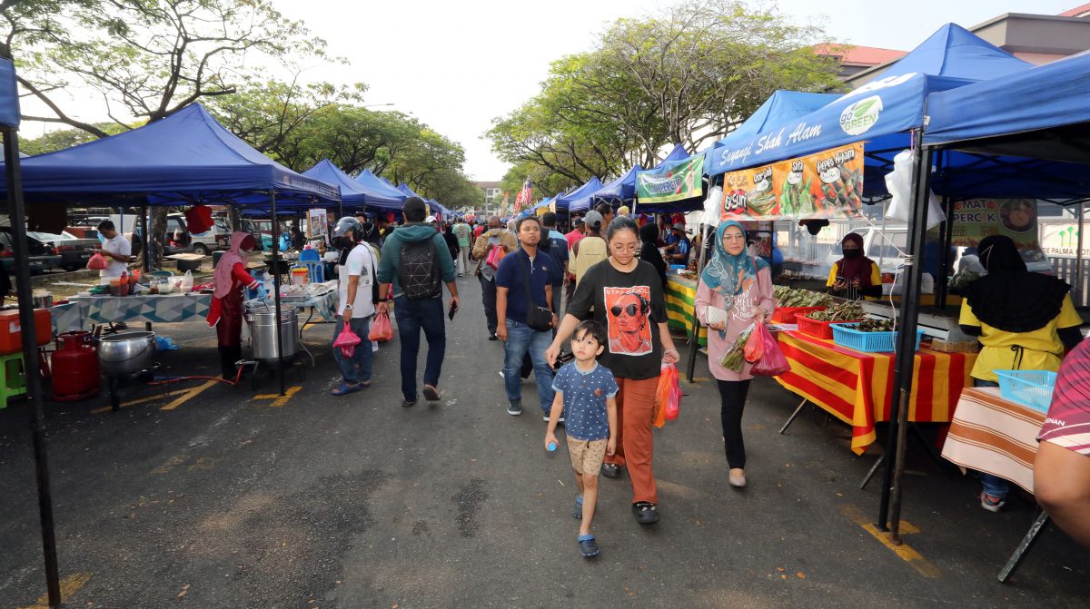
[[[961,331],[979,337],[981,344],[973,385],[997,386],[995,370],[1058,370],[1065,350],[1082,340],[1082,318],[1075,312],[1070,285],[1029,272],[1006,235],[984,237],[978,249],[988,275],[966,285],[958,320]],[[984,472],[980,482],[980,506],[998,512],[1010,485]]]

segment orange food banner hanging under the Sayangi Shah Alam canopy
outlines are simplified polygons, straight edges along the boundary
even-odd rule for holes
[[[863,196],[863,143],[723,176],[723,219],[853,218]]]

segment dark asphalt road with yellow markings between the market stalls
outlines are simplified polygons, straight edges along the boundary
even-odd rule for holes
[[[985,512],[976,480],[915,446],[904,517],[919,558],[882,545],[862,526],[877,483],[858,488],[880,447],[855,458],[849,430],[819,414],[778,435],[798,399],[770,379],[754,381],[744,419],[749,488],[727,485],[714,383],[686,383],[680,418],[655,433],[662,521],[638,525],[627,478],[603,479],[602,556],[581,558],[565,449],[542,449],[536,407],[506,414],[501,343],[485,340],[475,280],[459,284],[437,405],[400,406],[396,339],[373,388],[329,395],[331,325],[305,330],[317,366],[305,380],[291,370],[279,402],[263,377],[256,392],[132,387],[124,401],[150,399],[119,413],[101,410],[105,394],[48,404],[65,606],[1090,605],[1090,552],[1054,527],[998,584],[1031,500]],[[182,345],[161,355],[162,374],[215,373],[202,325],[157,330]],[[532,380],[523,391],[536,406]],[[45,592],[26,421],[25,402],[0,411],[0,609]]]

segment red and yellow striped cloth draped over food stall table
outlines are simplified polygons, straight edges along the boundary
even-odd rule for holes
[[[776,381],[850,425],[851,450],[862,454],[874,442],[874,424],[889,421],[893,353],[863,353],[797,331],[779,332],[779,348],[791,369]],[[917,351],[909,421],[949,422],[976,361],[976,353]]]

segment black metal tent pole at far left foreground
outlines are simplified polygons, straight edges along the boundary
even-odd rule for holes
[[[53,499],[49,485],[49,460],[46,451],[45,423],[43,421],[41,375],[38,362],[38,338],[34,322],[31,267],[26,264],[26,211],[23,206],[23,176],[19,162],[19,135],[14,129],[3,133],[4,173],[8,179],[8,203],[11,206],[12,249],[15,287],[19,290],[19,324],[22,328],[23,373],[26,377],[26,397],[29,402],[31,439],[34,443],[34,472],[38,483],[38,515],[41,519],[41,551],[46,560],[46,592],[49,607],[61,606],[61,584],[57,568],[57,534],[53,525]]]

